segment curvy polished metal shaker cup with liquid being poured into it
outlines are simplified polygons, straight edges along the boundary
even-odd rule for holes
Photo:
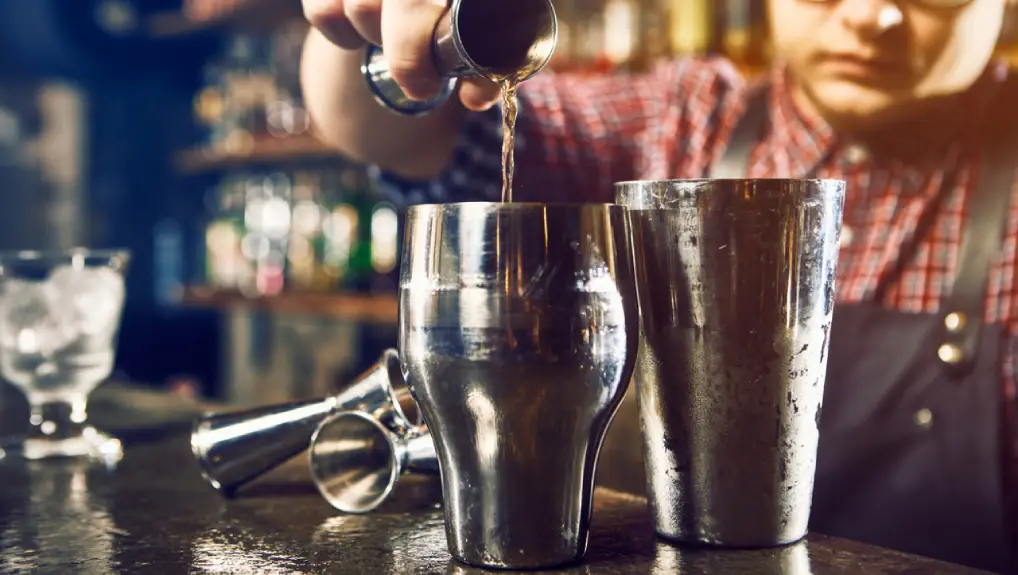
[[[459,562],[586,553],[598,456],[636,360],[625,209],[449,204],[407,212],[399,350],[442,468]]]

